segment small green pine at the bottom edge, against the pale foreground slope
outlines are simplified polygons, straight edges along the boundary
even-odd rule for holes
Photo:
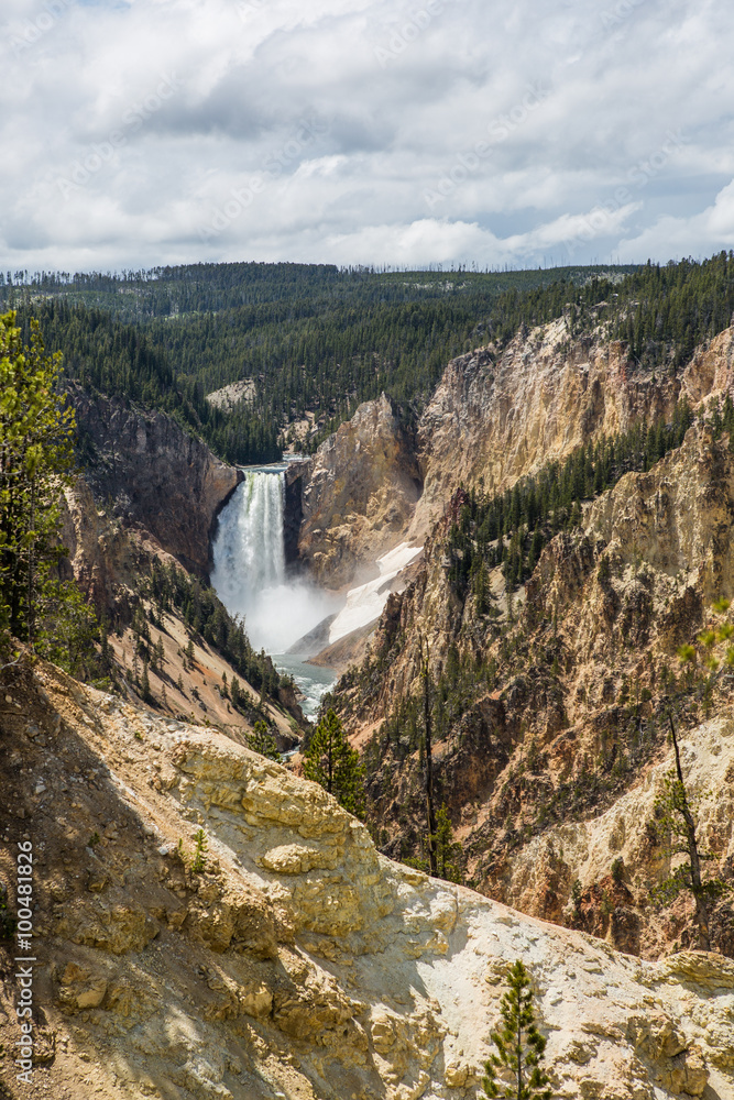
[[[549,1078],[539,1065],[547,1041],[535,1026],[530,976],[521,959],[511,967],[507,982],[500,1005],[502,1030],[491,1036],[497,1054],[484,1066],[482,1088],[492,1100],[550,1100]],[[497,1070],[512,1074],[512,1084],[499,1084]]]

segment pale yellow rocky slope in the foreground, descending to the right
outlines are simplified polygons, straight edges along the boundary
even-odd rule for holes
[[[732,1093],[720,956],[643,963],[392,864],[320,788],[46,666],[7,674],[0,723],[2,876],[12,905],[30,838],[37,898],[35,1067],[17,1084],[6,1056],[11,1096],[475,1097],[517,957],[556,1096]]]

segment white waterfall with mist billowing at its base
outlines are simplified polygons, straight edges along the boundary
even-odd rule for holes
[[[249,470],[219,516],[211,584],[231,615],[244,616],[255,649],[285,653],[340,601],[288,579],[285,565],[283,469]]]

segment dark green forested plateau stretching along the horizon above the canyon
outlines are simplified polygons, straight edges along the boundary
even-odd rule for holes
[[[232,462],[277,459],[308,413],[314,448],[387,393],[420,413],[446,363],[565,316],[569,339],[623,340],[631,362],[676,370],[731,323],[734,254],[666,266],[375,272],[307,264],[197,264],[121,275],[2,277],[0,299],[37,316],[88,388],[162,408]],[[205,395],[253,378],[231,410]]]

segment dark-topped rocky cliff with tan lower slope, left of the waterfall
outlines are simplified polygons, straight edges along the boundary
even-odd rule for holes
[[[174,420],[142,413],[122,400],[72,391],[79,426],[83,473],[66,491],[61,541],[68,568],[110,630],[108,652],[120,683],[140,669],[133,612],[157,628],[152,636],[163,660],[150,669],[152,705],[172,715],[217,723],[243,737],[252,725],[230,705],[227,684],[239,678],[253,700],[259,692],[213,645],[185,622],[184,608],[167,612],[150,591],[156,569],[193,572],[209,565],[209,535],[219,508],[238,484],[238,470],[220,462]],[[185,657],[194,646],[194,660]],[[221,649],[221,644],[220,644]],[[281,688],[267,706],[281,748],[294,743],[291,722],[304,717],[292,689]]]

